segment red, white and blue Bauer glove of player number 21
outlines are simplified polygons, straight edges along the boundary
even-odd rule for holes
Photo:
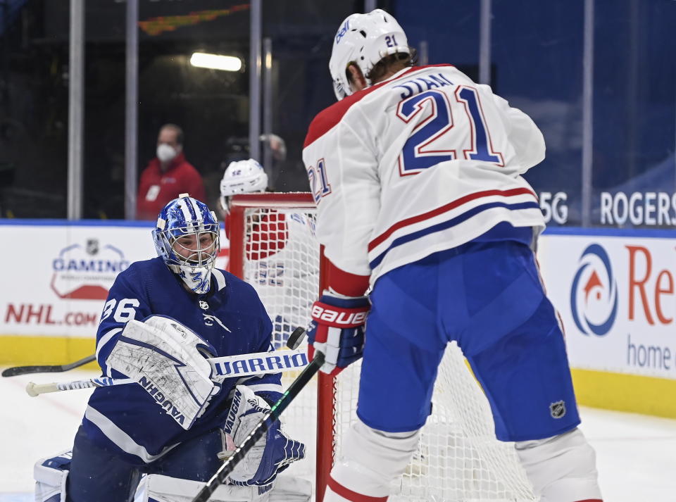
[[[361,358],[364,351],[364,323],[370,303],[365,296],[337,298],[324,294],[312,306],[308,326],[308,359],[315,349],[323,352],[325,363],[320,368],[330,375]]]

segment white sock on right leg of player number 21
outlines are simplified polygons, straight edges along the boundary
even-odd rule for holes
[[[601,502],[596,453],[579,429],[515,448],[540,502]]]

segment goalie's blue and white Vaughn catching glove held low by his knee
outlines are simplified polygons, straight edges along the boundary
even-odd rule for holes
[[[253,394],[249,387],[246,385],[235,387],[230,411],[223,425],[225,451],[218,453],[218,458],[225,460],[232,455],[237,445],[244,442],[268,410],[270,410],[268,403]],[[301,458],[305,458],[305,445],[300,441],[289,439],[282,432],[280,421],[276,420],[265,436],[258,439],[246,452],[227,481],[239,486],[251,484],[263,486],[273,482],[277,474]]]

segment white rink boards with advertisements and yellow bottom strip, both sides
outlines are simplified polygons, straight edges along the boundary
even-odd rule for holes
[[[0,220],[0,227],[17,243],[4,251],[0,365],[94,353],[115,276],[156,256],[150,222]],[[542,277],[563,320],[580,403],[676,418],[676,404],[665,399],[676,390],[675,253],[673,232],[663,230],[553,228],[540,239]]]

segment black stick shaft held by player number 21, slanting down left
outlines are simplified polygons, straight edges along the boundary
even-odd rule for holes
[[[300,333],[299,330],[301,330]],[[296,328],[296,331],[294,331],[291,337],[289,337],[289,346],[292,348],[292,338],[294,335],[299,337],[299,340],[296,341],[294,339],[293,342],[297,346],[303,339],[305,330],[303,330],[303,328]],[[192,502],[207,502],[209,500],[211,494],[213,494],[215,489],[225,482],[225,479],[227,479],[232,470],[234,470],[235,466],[237,466],[239,463],[239,460],[244,458],[246,453],[248,453],[251,449],[251,446],[256,444],[256,441],[261,439],[265,432],[268,432],[268,429],[270,429],[273,423],[275,423],[275,420],[280,418],[282,411],[284,411],[287,406],[292,403],[296,396],[298,396],[299,392],[303,389],[303,387],[305,387],[305,385],[310,381],[315,373],[318,372],[319,368],[321,368],[323,364],[324,354],[319,351],[315,351],[315,357],[311,363],[308,364],[301,374],[296,377],[292,384],[289,385],[289,388],[284,392],[284,394],[282,394],[282,397],[280,397],[279,401],[277,401],[273,407],[270,408],[270,410],[268,410],[265,415],[263,415],[261,421],[256,424],[256,427],[253,427],[253,430],[249,433],[249,436],[244,439],[242,444],[235,448],[230,458],[225,460],[225,463],[223,463],[223,465],[218,468],[215,475],[213,475],[213,477],[208,480],[204,488],[202,488],[199,493],[194,496]]]

